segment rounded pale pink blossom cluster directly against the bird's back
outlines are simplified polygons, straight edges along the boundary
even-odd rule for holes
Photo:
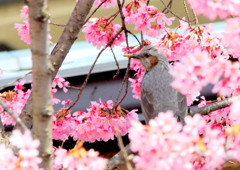
[[[193,53],[190,52],[186,57],[182,58],[181,62],[174,64],[174,67],[170,71],[174,78],[171,85],[185,95],[189,91],[199,94],[202,86],[205,85],[199,80],[199,77],[208,75],[209,62],[208,52],[196,48]]]

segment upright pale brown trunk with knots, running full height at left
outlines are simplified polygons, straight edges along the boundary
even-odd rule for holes
[[[29,19],[32,52],[32,115],[33,137],[39,139],[40,167],[52,169],[52,114],[51,83],[53,67],[48,55],[47,0],[29,0]]]

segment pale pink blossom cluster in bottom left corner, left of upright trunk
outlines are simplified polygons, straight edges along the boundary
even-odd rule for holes
[[[14,130],[10,142],[13,146],[19,149],[19,154],[16,156],[14,152],[7,148],[4,144],[0,145],[0,162],[1,169],[4,170],[20,170],[34,169],[40,170],[39,164],[41,158],[38,157],[39,140],[33,139],[30,131],[25,131],[24,134],[20,130]]]

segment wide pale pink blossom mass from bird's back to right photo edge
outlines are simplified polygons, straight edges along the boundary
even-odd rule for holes
[[[174,77],[171,85],[187,95],[189,91],[200,91],[211,83],[214,84],[213,93],[231,96],[240,83],[239,68],[238,62],[221,57],[211,59],[206,50],[196,48],[174,65],[170,72]]]

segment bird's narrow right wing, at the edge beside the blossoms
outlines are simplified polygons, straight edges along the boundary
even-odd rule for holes
[[[178,120],[181,121],[182,124],[184,123],[184,117],[188,113],[188,107],[187,107],[187,98],[185,95],[178,92]]]

